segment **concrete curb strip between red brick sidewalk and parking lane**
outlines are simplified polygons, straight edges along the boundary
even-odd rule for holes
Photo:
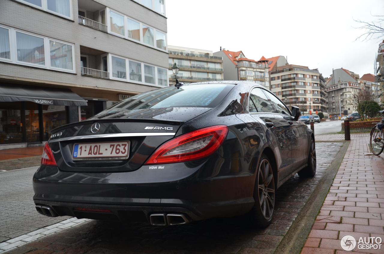
[[[336,142],[336,141],[333,141]],[[283,253],[300,253],[301,249],[308,238],[308,235],[312,229],[312,225],[320,211],[321,206],[329,192],[329,188],[333,183],[333,179],[339,170],[344,155],[347,152],[350,141],[345,141],[340,148],[339,153],[334,158],[331,165],[324,173],[323,178],[319,181],[318,185],[314,189],[308,201],[297,215],[295,221],[293,221],[290,229],[281,240],[280,244],[275,250],[275,254]]]

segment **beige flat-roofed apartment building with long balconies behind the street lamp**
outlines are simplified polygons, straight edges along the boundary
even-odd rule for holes
[[[177,79],[184,84],[223,80],[223,58],[214,56],[212,51],[169,45],[168,52],[168,78],[171,86],[175,84],[172,72],[174,63],[180,68]]]

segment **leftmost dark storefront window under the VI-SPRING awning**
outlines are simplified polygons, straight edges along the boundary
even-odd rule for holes
[[[20,102],[0,103],[0,144],[22,142]]]

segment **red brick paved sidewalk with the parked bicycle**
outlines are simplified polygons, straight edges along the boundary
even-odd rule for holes
[[[301,253],[345,253],[339,239],[346,234],[357,239],[384,239],[384,156],[367,155],[371,153],[367,143],[369,137],[351,135],[346,155]],[[384,251],[356,248],[354,252]]]

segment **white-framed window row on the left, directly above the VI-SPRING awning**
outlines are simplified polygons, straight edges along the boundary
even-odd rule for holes
[[[66,41],[61,41],[61,40],[57,40],[57,39],[50,38],[50,37],[36,35],[34,33],[29,33],[29,32],[19,30],[16,28],[12,28],[12,27],[7,27],[7,26],[0,26],[0,27],[8,29],[8,36],[9,36],[9,43],[10,43],[10,55],[11,55],[11,59],[0,58],[1,62],[14,63],[14,64],[22,65],[22,66],[33,66],[33,67],[37,67],[37,68],[41,68],[41,69],[56,70],[56,71],[61,71],[61,72],[66,72],[66,73],[76,73],[76,64],[75,64],[75,58],[74,58],[74,50],[75,49],[74,49],[73,43],[68,43]],[[44,62],[45,62],[44,65],[23,62],[23,61],[19,61],[17,59],[16,32],[23,33],[23,34],[30,35],[30,36],[35,36],[37,38],[43,39],[43,41],[44,41]],[[72,46],[72,64],[73,64],[72,70],[51,67],[50,44],[49,44],[50,41],[56,41],[58,43],[63,43],[63,44]]]

